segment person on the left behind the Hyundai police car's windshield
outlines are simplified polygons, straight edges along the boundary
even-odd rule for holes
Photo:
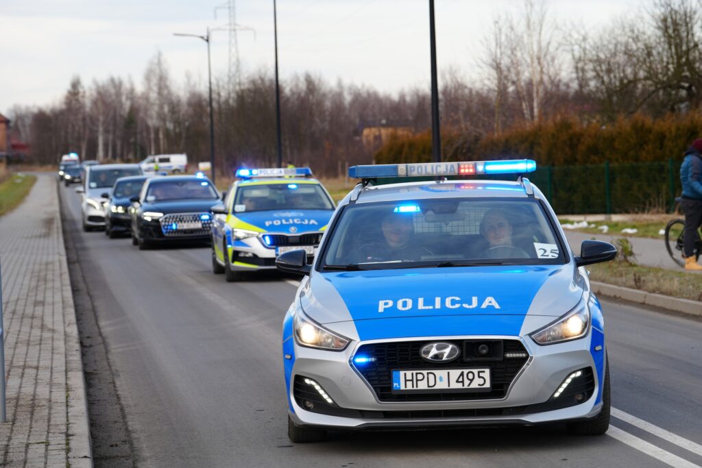
[[[432,255],[427,248],[413,243],[414,222],[412,215],[388,213],[380,223],[383,239],[366,243],[357,253],[355,263],[416,262],[425,255]]]

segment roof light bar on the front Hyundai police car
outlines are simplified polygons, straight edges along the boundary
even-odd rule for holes
[[[349,168],[349,177],[355,179],[374,179],[384,177],[420,177],[426,175],[523,174],[533,171],[536,171],[536,161],[533,159],[506,159],[503,161],[352,166]]]

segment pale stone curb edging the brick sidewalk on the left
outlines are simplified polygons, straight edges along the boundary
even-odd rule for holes
[[[55,188],[56,201],[60,203],[58,183],[55,185]],[[58,209],[60,211],[60,206]],[[66,246],[63,239],[63,219],[60,213],[58,215],[58,245],[60,246],[59,257],[61,274],[66,279],[64,287],[67,289],[64,291],[64,297],[67,297],[67,300],[65,300],[63,304],[67,373],[67,462],[71,467],[92,467],[93,444],[91,442],[90,422],[88,420],[88,400],[86,397],[86,382],[83,373],[83,358],[81,356],[76,309],[73,304],[73,290],[68,274]]]

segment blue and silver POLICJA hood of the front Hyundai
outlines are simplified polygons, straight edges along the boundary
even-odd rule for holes
[[[300,305],[360,340],[519,335],[575,307],[586,281],[570,264],[315,273]]]

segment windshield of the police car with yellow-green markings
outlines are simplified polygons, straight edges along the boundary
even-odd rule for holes
[[[324,189],[317,184],[251,185],[239,187],[234,213],[265,210],[333,210]]]

